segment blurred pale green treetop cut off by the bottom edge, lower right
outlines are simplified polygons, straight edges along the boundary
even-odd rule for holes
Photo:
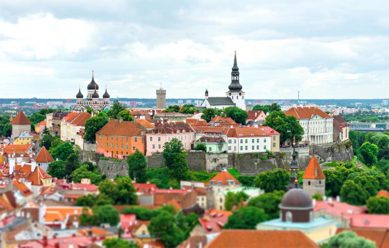
[[[357,236],[353,231],[344,231],[329,238],[328,247],[343,248],[343,247],[360,247],[374,248],[375,243],[369,239]]]

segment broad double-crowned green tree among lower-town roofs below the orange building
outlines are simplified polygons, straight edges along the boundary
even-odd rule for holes
[[[102,181],[99,184],[100,193],[106,194],[110,197],[114,201],[114,204],[136,204],[137,196],[131,179],[129,177],[122,177],[115,179],[115,182],[116,183],[109,179]]]

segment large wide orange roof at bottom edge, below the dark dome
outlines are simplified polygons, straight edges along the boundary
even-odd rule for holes
[[[319,247],[301,231],[225,229],[205,248]]]

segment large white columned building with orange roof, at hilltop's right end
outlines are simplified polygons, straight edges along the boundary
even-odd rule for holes
[[[327,144],[333,138],[333,117],[316,107],[291,107],[286,115],[293,115],[304,129],[302,143]],[[290,141],[289,141],[290,143]]]

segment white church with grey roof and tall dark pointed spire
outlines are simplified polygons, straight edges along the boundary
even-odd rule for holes
[[[239,68],[236,62],[236,51],[234,57],[234,65],[231,71],[231,84],[228,86],[228,91],[225,97],[208,97],[208,90],[205,91],[205,99],[201,104],[206,108],[224,109],[226,107],[236,106],[246,110],[245,92],[242,91],[242,86],[239,84]]]

